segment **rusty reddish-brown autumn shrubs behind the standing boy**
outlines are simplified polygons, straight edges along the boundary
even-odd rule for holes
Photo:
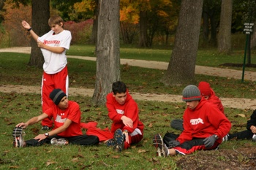
[[[26,20],[31,24],[31,6],[23,6],[7,1],[4,5],[4,22],[1,24],[0,47],[24,47],[31,45],[31,37],[28,31],[21,26],[21,21]],[[71,31],[72,44],[85,44],[91,35],[93,20],[80,23],[67,21],[64,29]]]

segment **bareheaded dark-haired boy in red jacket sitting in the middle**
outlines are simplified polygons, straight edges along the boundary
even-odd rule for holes
[[[143,139],[143,123],[139,120],[138,104],[129,95],[124,82],[113,82],[112,93],[108,93],[106,107],[113,123],[111,132],[114,138],[106,142],[116,152],[127,149],[131,144]]]

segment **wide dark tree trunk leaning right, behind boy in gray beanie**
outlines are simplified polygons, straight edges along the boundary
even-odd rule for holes
[[[162,78],[165,85],[184,85],[195,81],[202,11],[203,0],[181,1],[175,45],[167,72]]]

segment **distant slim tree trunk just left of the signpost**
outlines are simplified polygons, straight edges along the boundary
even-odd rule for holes
[[[218,51],[219,53],[231,53],[231,23],[233,0],[222,0],[220,12]]]

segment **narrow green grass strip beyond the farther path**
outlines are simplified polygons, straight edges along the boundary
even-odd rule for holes
[[[80,55],[95,57],[95,47],[92,45],[72,45],[67,51],[67,55]],[[121,47],[120,58],[138,59],[147,61],[170,61],[171,49],[146,49],[134,47]],[[256,51],[251,52],[251,62],[256,63]],[[247,58],[246,58],[247,60]],[[231,55],[219,54],[216,50],[198,50],[197,65],[199,66],[219,66],[223,63],[244,63],[244,50],[234,50]],[[242,67],[226,67],[230,69],[242,69]],[[256,68],[246,68],[246,71],[256,72]]]

